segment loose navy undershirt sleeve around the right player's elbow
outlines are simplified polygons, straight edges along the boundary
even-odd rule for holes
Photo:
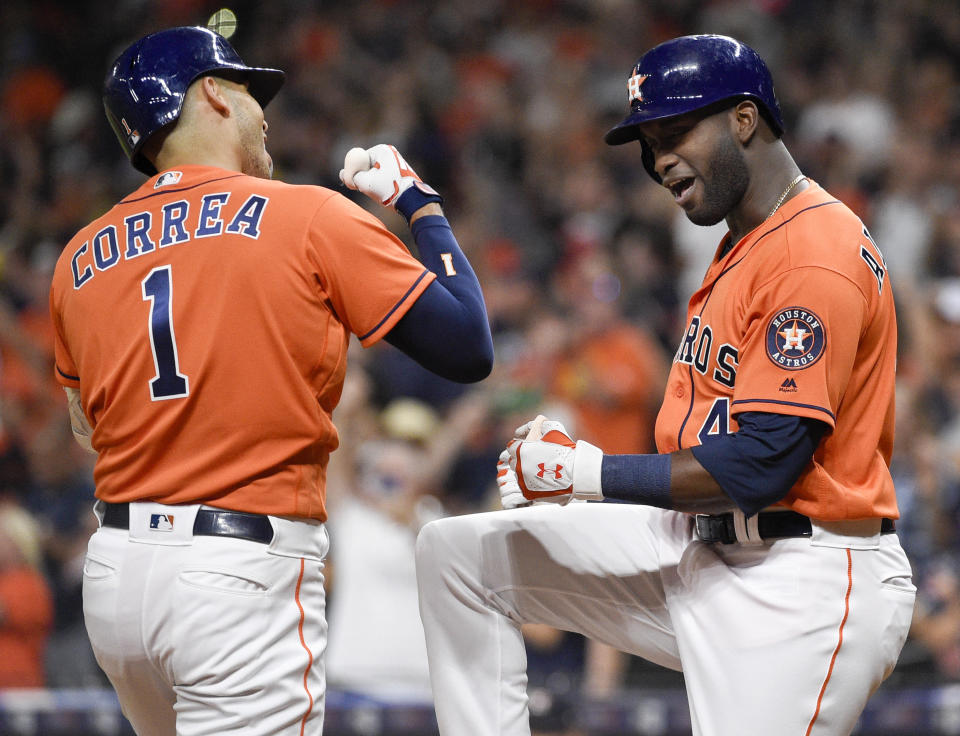
[[[790,492],[829,427],[816,419],[767,412],[744,412],[737,423],[737,432],[711,437],[692,450],[751,516]]]

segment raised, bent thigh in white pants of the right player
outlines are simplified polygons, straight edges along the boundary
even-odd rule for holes
[[[660,570],[676,564],[689,536],[688,517],[625,504],[442,519],[418,541],[421,597],[442,585],[429,581],[452,573],[519,623],[582,633],[676,668]]]

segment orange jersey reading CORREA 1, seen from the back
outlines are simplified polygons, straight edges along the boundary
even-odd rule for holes
[[[434,278],[331,190],[152,177],[70,241],[50,291],[97,497],[324,520],[350,333],[376,342]]]

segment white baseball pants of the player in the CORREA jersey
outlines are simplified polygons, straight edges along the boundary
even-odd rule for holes
[[[194,537],[198,508],[131,504],[129,533],[90,539],[83,613],[124,715],[139,736],[319,734],[324,525],[270,517],[270,544]],[[151,511],[177,530],[151,530]]]

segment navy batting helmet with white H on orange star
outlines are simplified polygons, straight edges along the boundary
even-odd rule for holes
[[[657,181],[653,154],[639,132],[650,120],[750,99],[773,132],[783,134],[770,70],[756,51],[728,36],[681,36],[655,46],[633,67],[627,91],[630,114],[604,140],[611,146],[639,140],[644,166]]]

